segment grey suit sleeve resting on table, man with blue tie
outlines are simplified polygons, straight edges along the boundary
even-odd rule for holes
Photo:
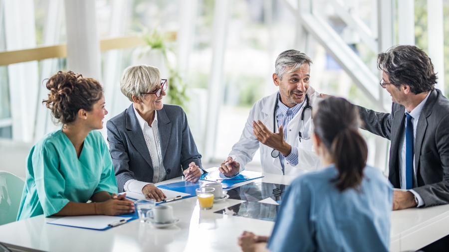
[[[423,198],[425,207],[449,204],[449,115],[440,121],[436,130],[435,141],[440,156],[438,161],[441,162],[441,167],[443,168],[443,180],[413,189]],[[437,160],[434,160],[433,163],[435,161]],[[437,165],[438,163],[435,164]],[[436,168],[421,167],[421,169],[426,169],[429,173],[437,172]]]

